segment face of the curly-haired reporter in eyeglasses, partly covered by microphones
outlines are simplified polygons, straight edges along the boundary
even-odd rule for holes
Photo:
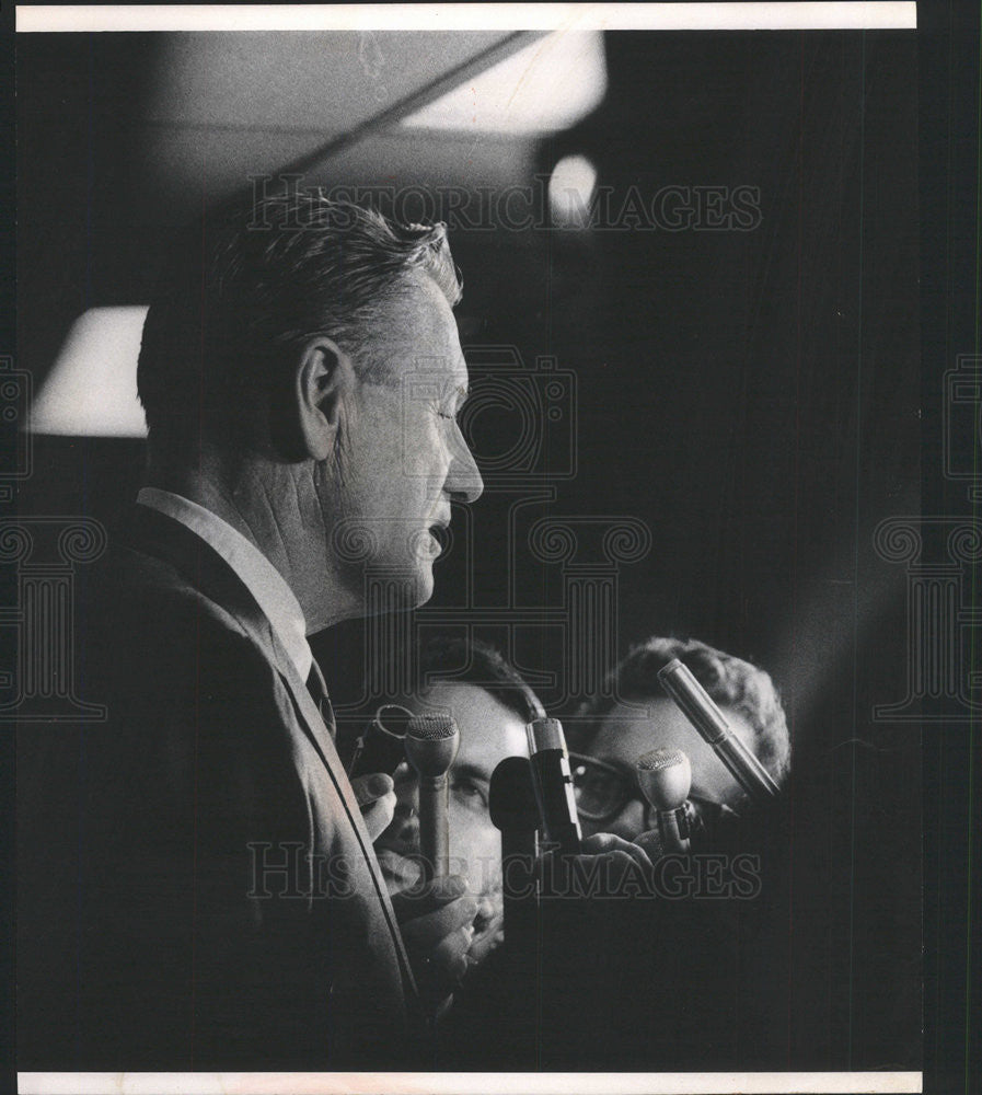
[[[644,710],[638,710],[642,707]],[[753,749],[753,728],[739,712],[721,706],[730,729]],[[651,749],[681,749],[692,764],[690,797],[731,806],[741,797],[740,786],[723,761],[671,700],[637,700],[617,704],[604,717],[588,754],[620,769],[636,796],[606,821],[582,819],[585,833],[613,832],[628,840],[645,831],[644,797],[637,786],[635,762]],[[654,818],[649,818],[654,823]]]

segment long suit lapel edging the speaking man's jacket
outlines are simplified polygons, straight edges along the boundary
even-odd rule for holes
[[[361,808],[355,798],[334,740],[313,696],[308,691],[307,682],[300,679],[293,660],[277,637],[269,620],[256,603],[249,588],[221,555],[196,532],[180,521],[148,506],[137,505],[131,526],[131,540],[138,551],[171,563],[184,574],[195,588],[234,616],[266,650],[269,660],[276,666],[280,679],[293,700],[298,722],[327,769],[327,774],[344,804],[348,821],[368,863],[376,894],[398,956],[407,994],[416,995],[416,983],[403,946],[402,934],[392,909],[392,902],[389,899],[388,887],[376,858],[371,838],[361,817]]]

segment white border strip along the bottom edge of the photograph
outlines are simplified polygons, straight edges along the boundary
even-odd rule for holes
[[[21,1072],[20,1095],[919,1095],[921,1072]]]

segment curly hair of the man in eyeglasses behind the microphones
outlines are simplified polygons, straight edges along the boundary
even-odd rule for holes
[[[777,689],[763,669],[698,639],[655,636],[633,646],[611,673],[603,695],[587,701],[570,724],[570,747],[589,753],[605,715],[620,700],[667,698],[658,670],[678,658],[720,706],[739,712],[753,728],[753,752],[782,783],[790,768],[792,742]]]

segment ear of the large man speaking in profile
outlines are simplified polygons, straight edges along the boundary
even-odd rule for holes
[[[304,344],[293,372],[297,442],[304,457],[326,460],[355,381],[350,357],[331,338],[319,335]]]

